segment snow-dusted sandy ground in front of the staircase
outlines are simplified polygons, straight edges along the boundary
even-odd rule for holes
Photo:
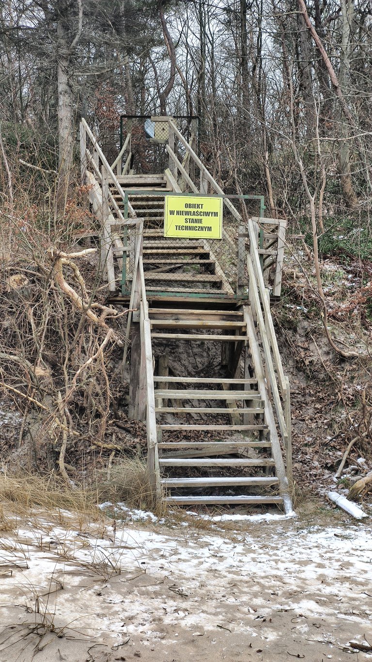
[[[59,519],[3,525],[1,662],[372,659],[370,519]]]

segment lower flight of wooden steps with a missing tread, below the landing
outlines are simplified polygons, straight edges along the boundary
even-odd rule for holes
[[[167,352],[171,361],[187,351],[186,342],[194,351],[196,343],[213,343],[216,354],[229,344],[230,354],[240,357],[242,351],[247,375],[154,377],[161,485],[168,502],[289,507],[284,465],[277,466],[273,455],[272,407],[262,393],[264,380],[252,369],[251,346],[257,341],[248,334],[249,315],[248,307],[149,308],[155,352]]]

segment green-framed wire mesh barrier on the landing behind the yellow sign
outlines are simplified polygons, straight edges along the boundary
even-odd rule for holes
[[[167,192],[128,192],[137,216],[144,219],[143,267],[148,291],[202,295],[245,295],[248,287],[248,248],[244,226],[225,210],[223,238],[166,238],[164,209]],[[257,203],[256,209],[257,212]],[[131,285],[135,262],[135,230],[128,230],[126,273]]]

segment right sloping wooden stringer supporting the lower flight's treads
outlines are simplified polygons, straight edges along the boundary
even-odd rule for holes
[[[246,333],[249,338],[254,372],[256,374],[262,401],[264,402],[264,421],[268,426],[270,440],[272,442],[272,457],[276,466],[276,475],[278,477],[280,496],[283,500],[284,512],[286,515],[288,515],[293,512],[292,499],[288,479],[285,474],[285,466],[283,455],[281,453],[278,430],[276,428],[276,422],[274,418],[274,411],[268,396],[268,385],[264,376],[264,366],[262,364],[260,346],[258,344],[256,328],[254,326],[254,319],[250,306],[243,306],[243,312],[244,320],[246,321]]]

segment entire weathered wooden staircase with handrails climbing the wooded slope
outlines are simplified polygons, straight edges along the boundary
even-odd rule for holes
[[[200,169],[203,193],[209,182],[211,193],[222,195],[171,120],[169,126],[194,160],[194,168]],[[120,171],[116,176],[85,120],[81,136],[83,181],[89,184],[94,213],[103,218],[101,263],[110,301],[128,307],[123,360],[126,363],[130,356],[129,414],[146,421],[155,500],[180,505],[274,504],[291,512],[289,381],[264,280],[264,258],[270,258],[270,265],[275,261],[275,219],[259,244],[262,219],[248,218],[243,224],[237,209],[224,199],[235,227],[233,240],[225,230],[223,239],[217,240],[217,248],[229,246],[234,266],[233,278],[231,273],[228,278],[229,260],[223,252],[224,263],[217,259],[210,240],[163,236],[165,195],[181,192],[177,169],[192,193],[198,193],[195,179],[169,145],[172,172]],[[93,154],[86,148],[87,138]],[[130,161],[131,154],[126,164]],[[269,248],[262,248],[265,237]],[[283,236],[280,242],[277,293]],[[120,295],[121,269],[128,289]],[[190,367],[192,355],[203,348],[221,357],[213,362],[214,371],[210,365],[202,373]],[[190,359],[183,361],[182,374],[176,374],[169,365],[180,355]]]

